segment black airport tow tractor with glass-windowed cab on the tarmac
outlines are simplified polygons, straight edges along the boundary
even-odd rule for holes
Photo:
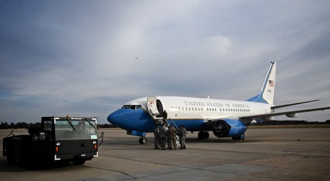
[[[30,128],[29,135],[11,134],[13,136],[3,138],[3,156],[9,164],[73,162],[82,165],[98,156],[96,117],[41,117],[41,128]],[[104,132],[102,142],[103,135]]]

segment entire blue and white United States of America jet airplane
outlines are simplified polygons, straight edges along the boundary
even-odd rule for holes
[[[330,107],[276,112],[275,109],[310,103],[306,101],[275,106],[276,62],[271,62],[258,95],[246,101],[222,99],[149,96],[127,102],[121,109],[108,115],[111,124],[127,130],[128,135],[139,136],[139,143],[146,144],[146,133],[152,133],[155,127],[163,123],[163,112],[167,112],[167,123],[184,125],[187,131],[198,131],[199,139],[208,139],[208,131],[218,138],[231,137],[232,140],[244,140],[247,126],[264,120],[273,120],[273,116],[286,115],[297,117],[299,112],[326,110]]]

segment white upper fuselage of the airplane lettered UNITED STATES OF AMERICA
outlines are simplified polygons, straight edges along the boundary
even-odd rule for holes
[[[249,101],[232,101],[191,97],[157,96],[168,117],[175,119],[212,119],[240,117],[270,113],[271,106]],[[141,105],[147,108],[147,97],[132,100],[125,105]]]

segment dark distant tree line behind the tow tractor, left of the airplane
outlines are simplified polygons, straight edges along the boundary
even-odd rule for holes
[[[0,129],[29,129],[32,127],[41,127],[41,123],[26,123],[26,122],[18,122],[18,123],[10,123],[1,122]],[[115,125],[112,124],[98,124],[98,128],[116,128]]]

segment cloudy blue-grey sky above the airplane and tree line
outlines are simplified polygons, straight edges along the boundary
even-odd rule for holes
[[[106,117],[147,96],[330,107],[329,0],[0,0],[0,121]],[[325,121],[330,110],[278,120]]]

